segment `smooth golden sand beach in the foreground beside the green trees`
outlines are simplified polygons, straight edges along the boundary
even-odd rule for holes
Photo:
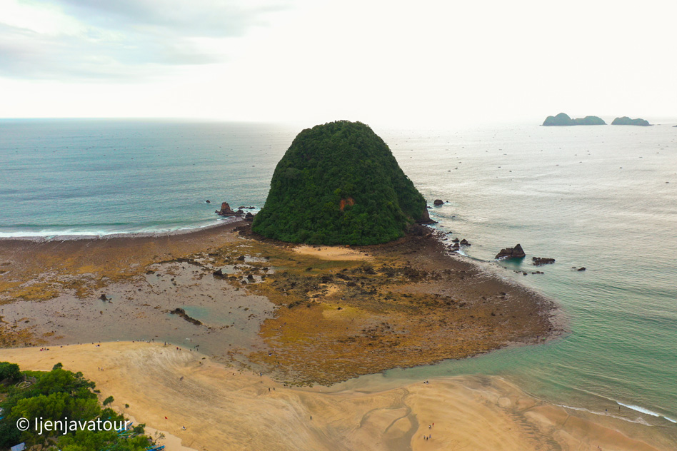
[[[384,390],[372,383],[368,391],[291,388],[200,353],[144,342],[4,349],[1,360],[24,370],[61,362],[81,371],[102,398],[115,398],[117,410],[129,404],[126,414],[164,432],[168,451],[668,450],[628,438],[612,418],[571,415],[498,377],[443,377]]]

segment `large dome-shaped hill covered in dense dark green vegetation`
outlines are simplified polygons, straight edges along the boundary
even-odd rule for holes
[[[426,200],[371,128],[336,121],[306,128],[279,161],[252,230],[291,243],[385,243],[414,222]]]

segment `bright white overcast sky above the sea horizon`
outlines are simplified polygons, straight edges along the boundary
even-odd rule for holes
[[[673,1],[0,0],[0,118],[677,116]]]

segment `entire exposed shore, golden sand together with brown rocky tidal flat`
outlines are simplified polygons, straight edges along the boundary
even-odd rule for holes
[[[562,332],[441,237],[297,246],[243,225],[0,241],[0,360],[81,371],[172,451],[669,449],[499,377],[378,375]]]

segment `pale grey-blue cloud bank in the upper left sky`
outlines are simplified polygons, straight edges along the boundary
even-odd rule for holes
[[[0,6],[0,76],[131,82],[223,62],[237,38],[289,9],[284,1],[10,3]]]

